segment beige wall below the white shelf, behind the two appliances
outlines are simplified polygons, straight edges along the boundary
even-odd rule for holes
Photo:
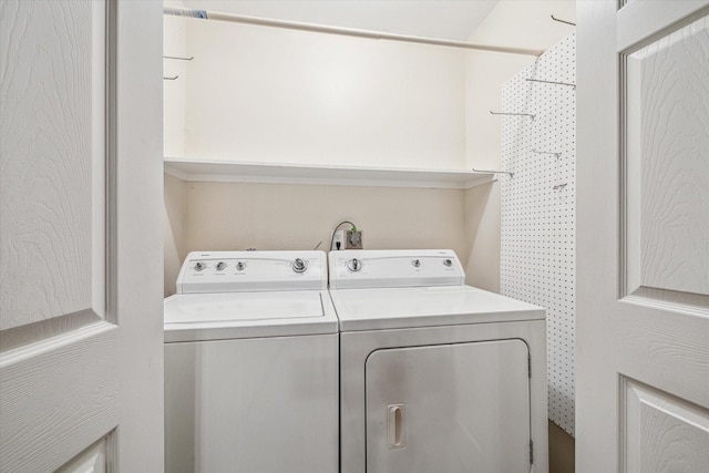
[[[299,184],[184,183],[165,177],[165,295],[192,250],[329,248],[353,222],[364,247],[451,248],[465,264],[465,191]],[[179,255],[179,258],[177,258]]]

